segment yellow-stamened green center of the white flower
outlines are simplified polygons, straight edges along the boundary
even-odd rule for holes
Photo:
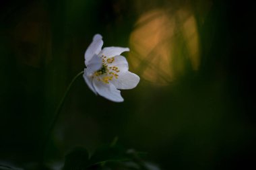
[[[113,78],[118,79],[119,68],[117,66],[111,65],[115,62],[115,58],[106,58],[106,56],[102,55],[102,67],[94,73],[92,78],[97,77],[98,81],[102,81],[103,83],[108,84],[109,81],[112,81]],[[110,66],[109,66],[110,65]]]

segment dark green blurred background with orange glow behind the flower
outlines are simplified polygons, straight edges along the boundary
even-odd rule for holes
[[[48,161],[118,136],[160,169],[255,167],[253,15],[246,1],[1,1],[0,160],[41,159],[57,103],[99,33],[104,46],[131,49],[123,55],[141,81],[113,103],[79,77]]]

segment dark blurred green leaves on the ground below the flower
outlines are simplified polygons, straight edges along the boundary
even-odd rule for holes
[[[65,157],[64,170],[69,169],[100,169],[106,163],[110,167],[119,166],[121,162],[132,162],[138,164],[140,157],[145,153],[137,153],[134,150],[127,150],[119,145],[106,145],[98,148],[92,157],[86,148],[75,148]],[[139,164],[138,164],[139,165]],[[139,165],[140,167],[140,165]]]

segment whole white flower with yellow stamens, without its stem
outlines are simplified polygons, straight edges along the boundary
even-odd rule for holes
[[[133,89],[139,77],[128,71],[128,62],[120,54],[129,48],[105,47],[100,34],[96,34],[85,53],[84,80],[97,95],[115,102],[123,101],[118,89]]]

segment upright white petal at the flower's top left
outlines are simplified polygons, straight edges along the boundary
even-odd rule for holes
[[[92,43],[90,44],[90,46],[88,46],[86,53],[84,54],[86,64],[92,59],[92,56],[94,56],[94,54],[100,53],[102,46],[102,36],[100,36],[100,34],[96,34],[92,40]]]

